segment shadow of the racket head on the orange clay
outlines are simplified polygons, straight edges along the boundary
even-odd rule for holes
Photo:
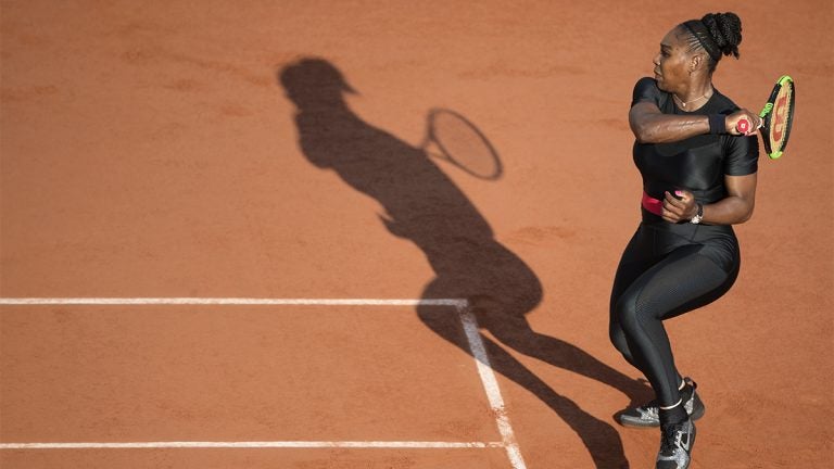
[[[496,180],[504,168],[495,148],[469,119],[446,109],[432,109],[420,148],[479,179]]]

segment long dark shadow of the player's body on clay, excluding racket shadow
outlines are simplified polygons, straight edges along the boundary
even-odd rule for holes
[[[526,315],[542,299],[535,274],[495,240],[489,223],[424,150],[369,125],[349,107],[344,94],[354,91],[332,64],[304,59],[281,68],[278,78],[298,107],[295,124],[307,160],[378,201],[388,230],[426,254],[435,277],[422,296],[468,299],[480,327],[497,340],[482,334],[493,369],[556,411],[581,438],[597,468],[628,467],[611,424],[560,395],[505,347],[614,386],[633,402],[647,397],[645,385],[530,327]],[[418,307],[418,314],[439,335],[471,353],[454,312]]]

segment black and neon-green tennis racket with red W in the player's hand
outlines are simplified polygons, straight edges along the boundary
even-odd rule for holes
[[[764,151],[768,156],[775,160],[782,156],[787,147],[787,138],[791,136],[791,125],[794,123],[794,98],[796,90],[794,80],[787,75],[779,78],[776,86],[770,93],[768,103],[759,113],[761,117],[761,138],[764,141]],[[742,134],[750,131],[751,124],[747,119],[738,121],[736,130]]]

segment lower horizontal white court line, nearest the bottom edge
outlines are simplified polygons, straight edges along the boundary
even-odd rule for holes
[[[0,443],[0,449],[136,449],[136,448],[491,448],[501,442],[141,442],[141,443]]]

